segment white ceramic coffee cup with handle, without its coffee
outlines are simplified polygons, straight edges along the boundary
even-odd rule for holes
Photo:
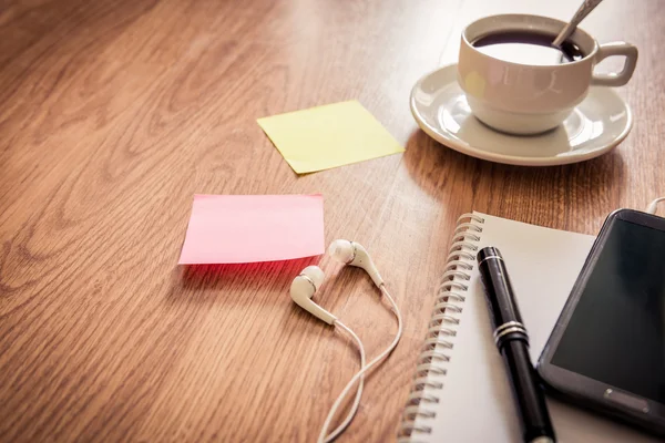
[[[508,31],[536,31],[554,37],[564,24],[546,17],[505,14],[485,17],[464,29],[458,82],[475,117],[502,132],[538,134],[561,124],[584,100],[590,85],[622,86],[631,80],[637,63],[637,48],[624,42],[598,44],[579,28],[569,40],[585,55],[569,63],[514,63],[488,55],[472,45],[484,35]],[[612,55],[625,56],[623,70],[594,74],[594,66]]]

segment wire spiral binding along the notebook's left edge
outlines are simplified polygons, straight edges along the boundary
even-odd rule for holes
[[[464,222],[468,220],[468,222]],[[434,310],[427,329],[422,351],[418,357],[411,392],[402,414],[398,430],[398,443],[419,443],[418,434],[429,434],[432,427],[428,420],[436,419],[434,411],[428,404],[439,403],[436,391],[443,389],[443,383],[429,378],[430,374],[444,377],[447,363],[457,336],[459,315],[464,305],[464,281],[471,279],[470,271],[475,262],[475,251],[482,233],[484,219],[474,214],[463,214],[457,220],[452,243],[448,253],[448,261],[437,289]]]

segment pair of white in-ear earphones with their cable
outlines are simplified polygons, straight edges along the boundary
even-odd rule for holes
[[[399,339],[401,338],[402,333],[402,320],[401,313],[399,312],[399,308],[395,303],[392,297],[390,297],[390,293],[386,289],[386,284],[381,278],[381,275],[377,270],[377,267],[371,260],[371,257],[362,247],[362,245],[349,240],[335,240],[332,241],[332,244],[330,244],[330,247],[328,248],[328,254],[334,259],[345,265],[356,266],[365,269],[365,271],[369,275],[377,288],[379,288],[381,293],[386,296],[386,298],[390,302],[391,310],[397,318],[398,331],[390,346],[386,348],[386,350],[378,354],[368,364],[365,364],[365,347],[362,346],[362,342],[360,341],[358,336],[356,336],[356,333],[350,328],[348,328],[346,324],[339,321],[337,317],[335,317],[332,313],[328,312],[311,300],[314,295],[317,292],[317,290],[324,282],[324,271],[318,266],[308,266],[305,269],[303,269],[303,271],[294,279],[290,286],[291,299],[300,308],[305,309],[316,318],[325,321],[328,324],[338,326],[344,331],[349,333],[351,338],[354,338],[354,340],[357,342],[358,349],[360,351],[360,370],[356,372],[351,380],[349,380],[345,389],[341,391],[341,393],[332,404],[332,408],[328,412],[328,416],[326,418],[326,422],[324,423],[324,426],[321,427],[321,432],[318,437],[319,443],[331,442],[337,436],[339,436],[344,432],[344,430],[350,424],[351,420],[354,419],[354,415],[356,414],[356,411],[358,410],[358,405],[360,404],[365,373],[371,368],[374,368],[376,364],[380,363],[383,359],[386,359],[386,357],[390,354],[390,352],[392,352],[395,347],[397,347],[397,343],[399,342]],[[344,422],[339,426],[337,426],[335,431],[327,435],[328,427],[330,426],[330,422],[335,418],[337,409],[339,408],[350,389],[354,387],[354,384],[356,384],[356,382],[358,382],[358,390],[356,392],[356,399],[354,400],[354,404],[349,413],[347,414]]]

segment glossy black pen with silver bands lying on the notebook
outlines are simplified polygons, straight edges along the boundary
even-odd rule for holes
[[[494,341],[503,357],[520,415],[523,440],[534,443],[555,442],[545,395],[529,357],[529,334],[522,323],[499,249],[491,246],[481,249],[478,253],[478,269],[494,327]]]

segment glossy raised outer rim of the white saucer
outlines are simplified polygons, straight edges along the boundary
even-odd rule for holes
[[[422,119],[422,116],[418,112],[418,109],[416,105],[416,97],[415,97],[416,90],[420,89],[420,85],[423,83],[423,81],[426,79],[428,79],[429,76],[431,76],[432,74],[434,74],[439,71],[452,70],[456,66],[457,66],[457,63],[448,64],[448,65],[441,66],[439,69],[436,69],[436,70],[422,75],[420,79],[418,79],[418,81],[411,89],[411,94],[409,97],[409,107],[411,110],[411,114],[413,115],[413,119],[418,123],[418,126],[427,135],[429,135],[431,138],[433,138],[438,143],[440,143],[441,145],[443,145],[448,148],[451,148],[453,151],[457,151],[461,154],[466,154],[466,155],[469,155],[469,156],[472,156],[475,158],[480,158],[480,159],[485,159],[489,162],[502,163],[502,164],[515,165],[515,166],[567,165],[567,164],[572,164],[572,163],[585,162],[585,161],[589,161],[589,159],[592,159],[595,157],[600,157],[601,155],[607,154],[608,152],[613,151],[616,146],[618,146],[618,144],[627,137],[627,135],[631,133],[631,130],[633,128],[633,111],[631,110],[631,106],[626,103],[626,101],[621,95],[618,95],[615,91],[613,91],[610,86],[591,86],[591,87],[606,89],[604,92],[614,94],[615,97],[618,99],[618,101],[623,104],[624,109],[626,110],[626,124],[625,124],[623,131],[616,137],[614,137],[611,142],[606,143],[606,145],[604,145],[597,150],[586,151],[585,153],[580,153],[580,154],[573,153],[573,154],[556,155],[556,156],[546,155],[546,156],[542,156],[542,157],[524,157],[524,156],[520,156],[520,155],[507,155],[507,154],[499,154],[499,153],[493,153],[493,152],[488,152],[488,151],[481,150],[479,147],[475,147],[475,146],[469,144],[468,142],[466,142],[463,140],[456,140],[453,137],[447,137],[447,136],[442,135],[441,133],[437,132],[436,127],[432,127],[424,121],[424,119]],[[587,100],[587,97],[585,97],[584,100]],[[443,130],[443,128],[441,127],[440,130]],[[446,133],[446,134],[450,134],[450,132],[448,132],[448,131],[441,131],[441,132]],[[503,134],[503,135],[509,136],[509,137],[513,136],[510,134]],[[539,137],[539,135],[534,135],[533,137],[535,140]]]

